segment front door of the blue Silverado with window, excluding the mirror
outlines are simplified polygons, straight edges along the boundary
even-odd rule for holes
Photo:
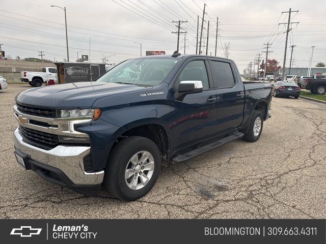
[[[211,138],[216,132],[216,90],[207,72],[206,58],[192,58],[181,67],[174,82],[171,99],[171,127],[175,151]],[[180,81],[200,80],[203,92],[182,95],[177,92]]]

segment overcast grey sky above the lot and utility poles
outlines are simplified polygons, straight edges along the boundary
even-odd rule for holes
[[[82,54],[90,54],[91,62],[119,63],[140,56],[146,50],[164,50],[172,54],[177,49],[177,31],[172,21],[181,24],[179,52],[196,53],[197,15],[199,33],[206,4],[202,48],[206,52],[209,21],[208,55],[215,52],[216,18],[219,32],[216,56],[233,59],[240,73],[258,53],[265,58],[264,44],[269,42],[275,58],[283,66],[286,25],[292,8],[291,31],[287,44],[286,67],[293,48],[293,67],[308,67],[311,46],[316,46],[312,66],[326,62],[326,16],[324,0],[0,0],[0,44],[6,55],[15,58],[39,57],[63,61],[67,57],[64,11],[50,7],[66,7],[70,62]],[[91,39],[91,42],[90,42]],[[91,46],[91,51],[89,51]],[[257,68],[257,66],[256,66]],[[255,68],[255,69],[256,69]]]

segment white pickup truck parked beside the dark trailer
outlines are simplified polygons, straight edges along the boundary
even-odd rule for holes
[[[43,82],[49,80],[53,80],[57,83],[57,68],[44,67],[42,68],[42,72],[20,72],[20,81],[29,82],[31,86],[41,86]]]

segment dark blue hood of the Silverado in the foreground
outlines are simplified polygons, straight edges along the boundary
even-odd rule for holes
[[[149,88],[152,87],[100,81],[75,82],[25,90],[18,94],[16,102],[23,105],[56,109],[89,108],[99,98]]]

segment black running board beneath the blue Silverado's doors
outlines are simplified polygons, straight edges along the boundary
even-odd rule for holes
[[[234,133],[230,134],[227,137],[223,137],[223,138],[219,139],[218,141],[214,141],[211,144],[196,148],[196,149],[194,149],[192,151],[188,151],[185,154],[179,154],[179,155],[175,156],[174,158],[172,158],[172,161],[174,161],[175,163],[180,163],[180,162],[182,162],[184,160],[187,160],[187,159],[193,158],[193,157],[195,157],[197,155],[200,155],[202,153],[205,153],[205,151],[208,151],[208,150],[210,150],[212,148],[221,146],[221,145],[223,145],[223,144],[225,144],[227,142],[234,141],[236,139],[240,139],[243,135],[244,134],[241,133],[241,132],[238,132],[238,131],[234,132]]]

